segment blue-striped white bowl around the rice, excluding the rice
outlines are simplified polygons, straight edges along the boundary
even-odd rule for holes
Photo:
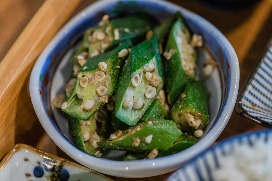
[[[247,133],[222,141],[192,159],[191,162],[170,176],[167,181],[214,181],[216,176],[213,175],[213,172],[223,165],[220,160],[241,147],[253,147],[256,142],[258,144],[264,143],[264,148],[271,147],[272,131]],[[225,174],[225,172],[221,172],[221,174]]]

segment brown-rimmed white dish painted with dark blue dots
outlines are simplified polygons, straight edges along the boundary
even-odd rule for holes
[[[0,163],[0,180],[113,181],[84,166],[25,144],[15,145]]]

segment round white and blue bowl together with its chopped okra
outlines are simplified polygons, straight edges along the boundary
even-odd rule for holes
[[[208,21],[165,1],[98,1],[40,55],[31,100],[52,140],[120,177],[179,168],[224,129],[239,64]]]

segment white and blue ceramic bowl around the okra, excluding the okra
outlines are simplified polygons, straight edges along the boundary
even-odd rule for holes
[[[199,66],[209,52],[218,62],[219,69],[206,79],[210,98],[210,122],[202,139],[192,147],[174,155],[153,160],[115,161],[112,152],[107,158],[95,158],[73,146],[68,134],[67,120],[54,108],[50,101],[59,93],[70,75],[71,67],[66,63],[84,31],[98,23],[101,14],[114,17],[116,5],[128,12],[135,9],[148,11],[159,20],[166,20],[176,11],[181,11],[189,28],[201,34],[205,48],[200,49]],[[138,7],[138,8],[137,8]],[[140,7],[140,8],[139,8]],[[116,11],[115,11],[116,12]],[[70,51],[68,51],[70,49]],[[71,70],[72,71],[72,70]],[[56,72],[56,73],[55,73]],[[162,0],[101,0],[93,3],[70,20],[44,49],[33,67],[30,78],[30,95],[36,114],[52,140],[70,157],[98,172],[119,177],[149,177],[173,171],[206,150],[218,138],[226,126],[234,108],[239,85],[239,63],[234,49],[218,29],[202,17],[173,3]]]

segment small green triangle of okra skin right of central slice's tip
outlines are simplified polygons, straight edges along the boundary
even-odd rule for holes
[[[166,103],[165,103],[166,104]],[[170,119],[164,106],[161,106],[158,99],[155,99],[149,108],[146,110],[145,114],[142,116],[141,120],[147,121],[149,119]]]

